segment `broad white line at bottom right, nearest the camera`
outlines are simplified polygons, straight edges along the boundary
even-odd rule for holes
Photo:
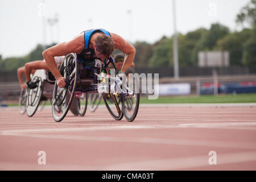
[[[208,163],[209,156],[205,154],[204,156],[193,156],[187,158],[169,158],[169,159],[160,159],[160,160],[147,160],[141,162],[130,162],[130,163],[121,163],[105,166],[104,170],[177,170],[177,169],[188,169],[196,167],[209,167]],[[240,153],[230,153],[230,154],[217,154],[217,164],[213,165],[218,167],[222,164],[234,164],[242,162],[255,162],[256,161],[256,151],[252,152],[240,152]],[[254,168],[256,162],[254,163]],[[232,169],[233,165],[229,167]]]

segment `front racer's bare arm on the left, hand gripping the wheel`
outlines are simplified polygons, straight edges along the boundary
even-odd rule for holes
[[[57,85],[60,87],[65,86],[65,78],[61,77],[59,69],[54,60],[54,56],[63,56],[68,53],[80,53],[84,49],[84,34],[76,36],[69,42],[63,42],[43,51],[44,60],[48,65],[49,70],[53,76],[57,78]]]

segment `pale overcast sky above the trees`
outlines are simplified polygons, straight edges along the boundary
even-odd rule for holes
[[[236,15],[248,2],[176,0],[177,31],[185,34],[214,22],[237,30]],[[43,43],[42,15],[59,16],[54,26],[45,23],[46,43],[66,42],[90,28],[105,28],[130,42],[154,43],[174,34],[172,8],[172,0],[0,0],[0,55],[26,55]]]

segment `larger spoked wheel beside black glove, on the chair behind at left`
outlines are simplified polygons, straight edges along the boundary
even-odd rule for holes
[[[37,82],[37,86],[35,89],[28,89],[27,92],[27,102],[26,102],[26,111],[28,117],[32,117],[36,110],[38,109],[38,106],[40,104],[40,100],[42,98],[43,94],[43,88],[44,88],[44,81],[42,79],[42,70],[39,69],[34,73],[34,76],[32,78],[32,82]]]

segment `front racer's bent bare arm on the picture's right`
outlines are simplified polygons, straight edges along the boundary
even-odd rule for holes
[[[126,53],[125,60],[123,61],[123,67],[121,69],[122,72],[125,72],[125,70],[129,68],[131,64],[133,64],[136,49],[121,36],[114,33],[110,34],[114,41],[115,49],[119,49],[120,51]]]

